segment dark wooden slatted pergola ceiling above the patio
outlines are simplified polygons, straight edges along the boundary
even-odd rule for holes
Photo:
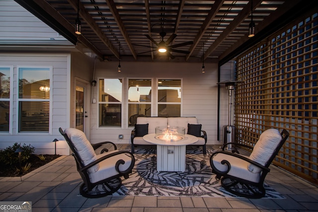
[[[284,14],[297,15],[295,11],[301,3],[301,0],[253,0],[256,36],[250,39],[247,37],[250,0],[80,0],[79,36],[74,32],[78,0],[16,1],[71,42],[80,43],[103,60],[171,60],[144,47],[156,47],[145,34],[159,43],[162,30],[166,32],[164,41],[172,33],[177,34],[171,45],[193,41],[192,45],[175,48],[190,53],[171,52],[178,58],[172,62],[202,61],[203,45],[205,60],[225,60],[233,51],[242,51],[246,43],[257,42],[257,33],[265,27],[290,21],[282,19]],[[43,10],[36,9],[39,7]]]

